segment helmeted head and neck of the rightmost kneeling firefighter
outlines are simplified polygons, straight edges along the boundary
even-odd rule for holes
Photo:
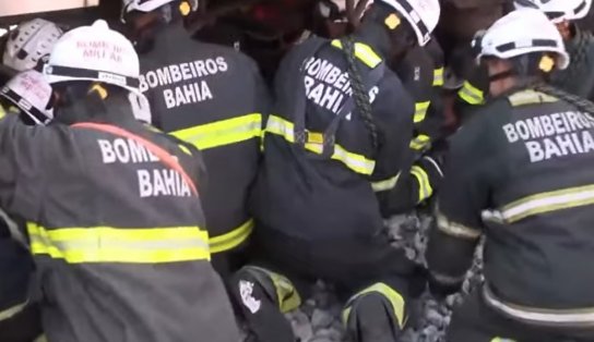
[[[488,70],[494,97],[546,82],[555,69],[563,70],[570,61],[560,33],[535,9],[499,19],[473,45],[479,50],[477,61]]]

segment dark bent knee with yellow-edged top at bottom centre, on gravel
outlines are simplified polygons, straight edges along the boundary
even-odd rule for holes
[[[342,320],[355,341],[396,341],[407,320],[404,307],[399,292],[376,283],[348,300]]]

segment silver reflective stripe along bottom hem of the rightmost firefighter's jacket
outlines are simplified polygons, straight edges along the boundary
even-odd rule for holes
[[[594,307],[544,309],[521,306],[497,298],[487,284],[483,286],[483,297],[495,309],[525,322],[553,326],[594,326]]]

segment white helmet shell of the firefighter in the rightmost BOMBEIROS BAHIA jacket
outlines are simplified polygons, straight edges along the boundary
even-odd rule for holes
[[[477,59],[485,56],[510,59],[532,52],[555,52],[558,69],[569,65],[569,54],[559,30],[538,10],[522,9],[507,14],[495,22],[479,40]]]

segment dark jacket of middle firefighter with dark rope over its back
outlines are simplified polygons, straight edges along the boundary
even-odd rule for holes
[[[313,37],[287,54],[265,129],[254,216],[264,227],[305,241],[369,237],[383,227],[381,211],[411,209],[419,196],[428,197],[427,173],[418,167],[416,175],[409,173],[414,103],[384,68],[379,51],[387,48],[369,39],[355,45],[378,149],[358,111],[343,110],[352,89],[342,49],[340,40]]]

